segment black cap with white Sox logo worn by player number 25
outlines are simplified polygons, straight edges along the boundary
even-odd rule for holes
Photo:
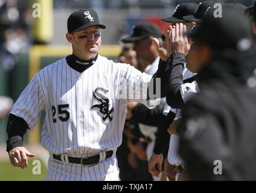
[[[77,10],[68,17],[68,33],[81,31],[93,25],[101,29],[106,28],[105,25],[100,24],[98,14],[94,10]]]

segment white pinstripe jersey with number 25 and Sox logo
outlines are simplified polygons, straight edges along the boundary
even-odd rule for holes
[[[120,86],[122,92],[131,94],[141,83],[148,85],[151,77],[100,55],[94,65],[80,73],[67,64],[65,57],[34,75],[10,113],[23,118],[33,131],[40,112],[45,110],[42,142],[46,150],[94,156],[121,144],[127,103],[139,101],[155,107],[158,100],[146,100],[146,87],[135,99],[120,97]],[[138,87],[129,90],[124,84]]]

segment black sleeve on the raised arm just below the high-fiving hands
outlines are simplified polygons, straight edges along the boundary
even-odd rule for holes
[[[185,55],[181,53],[171,54],[168,60],[170,68],[167,71],[166,101],[173,109],[181,109],[184,106],[181,96],[181,85],[184,84],[182,75],[184,62]]]

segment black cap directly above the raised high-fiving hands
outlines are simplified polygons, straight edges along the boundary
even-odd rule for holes
[[[197,8],[197,4],[193,2],[179,4],[176,6],[173,15],[171,17],[162,18],[162,21],[185,22],[185,19],[183,19],[183,17],[194,14],[194,12],[196,11],[196,8]]]

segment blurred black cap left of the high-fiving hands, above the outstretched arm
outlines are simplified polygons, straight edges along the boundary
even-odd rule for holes
[[[160,28],[150,22],[141,22],[133,27],[131,36],[121,39],[121,41],[124,43],[135,42],[146,39],[149,36],[162,37]]]

